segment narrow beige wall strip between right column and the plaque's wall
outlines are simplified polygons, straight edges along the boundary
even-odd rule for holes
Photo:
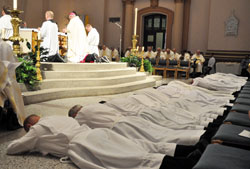
[[[208,46],[210,0],[192,0],[188,35],[188,50],[206,51]]]

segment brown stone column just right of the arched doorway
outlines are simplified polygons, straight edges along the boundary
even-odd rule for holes
[[[172,48],[176,48],[178,52],[182,50],[183,11],[183,0],[175,0]]]

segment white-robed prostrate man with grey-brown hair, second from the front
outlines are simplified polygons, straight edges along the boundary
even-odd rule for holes
[[[90,128],[108,128],[129,139],[158,143],[162,148],[167,148],[164,143],[195,145],[205,133],[203,129],[173,130],[140,117],[122,116],[117,110],[105,104],[92,104],[84,107],[75,105],[69,110],[69,116],[75,117],[80,125],[86,124]],[[173,150],[171,147],[167,149],[170,152]],[[165,152],[167,153],[173,155],[173,151]]]

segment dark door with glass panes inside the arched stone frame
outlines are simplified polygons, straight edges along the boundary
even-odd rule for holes
[[[143,17],[143,46],[166,48],[167,15],[150,14]]]

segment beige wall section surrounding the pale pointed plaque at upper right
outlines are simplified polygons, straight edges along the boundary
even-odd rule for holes
[[[238,36],[225,36],[225,21],[233,10],[239,19]],[[208,49],[250,50],[249,0],[211,0],[210,13]]]

